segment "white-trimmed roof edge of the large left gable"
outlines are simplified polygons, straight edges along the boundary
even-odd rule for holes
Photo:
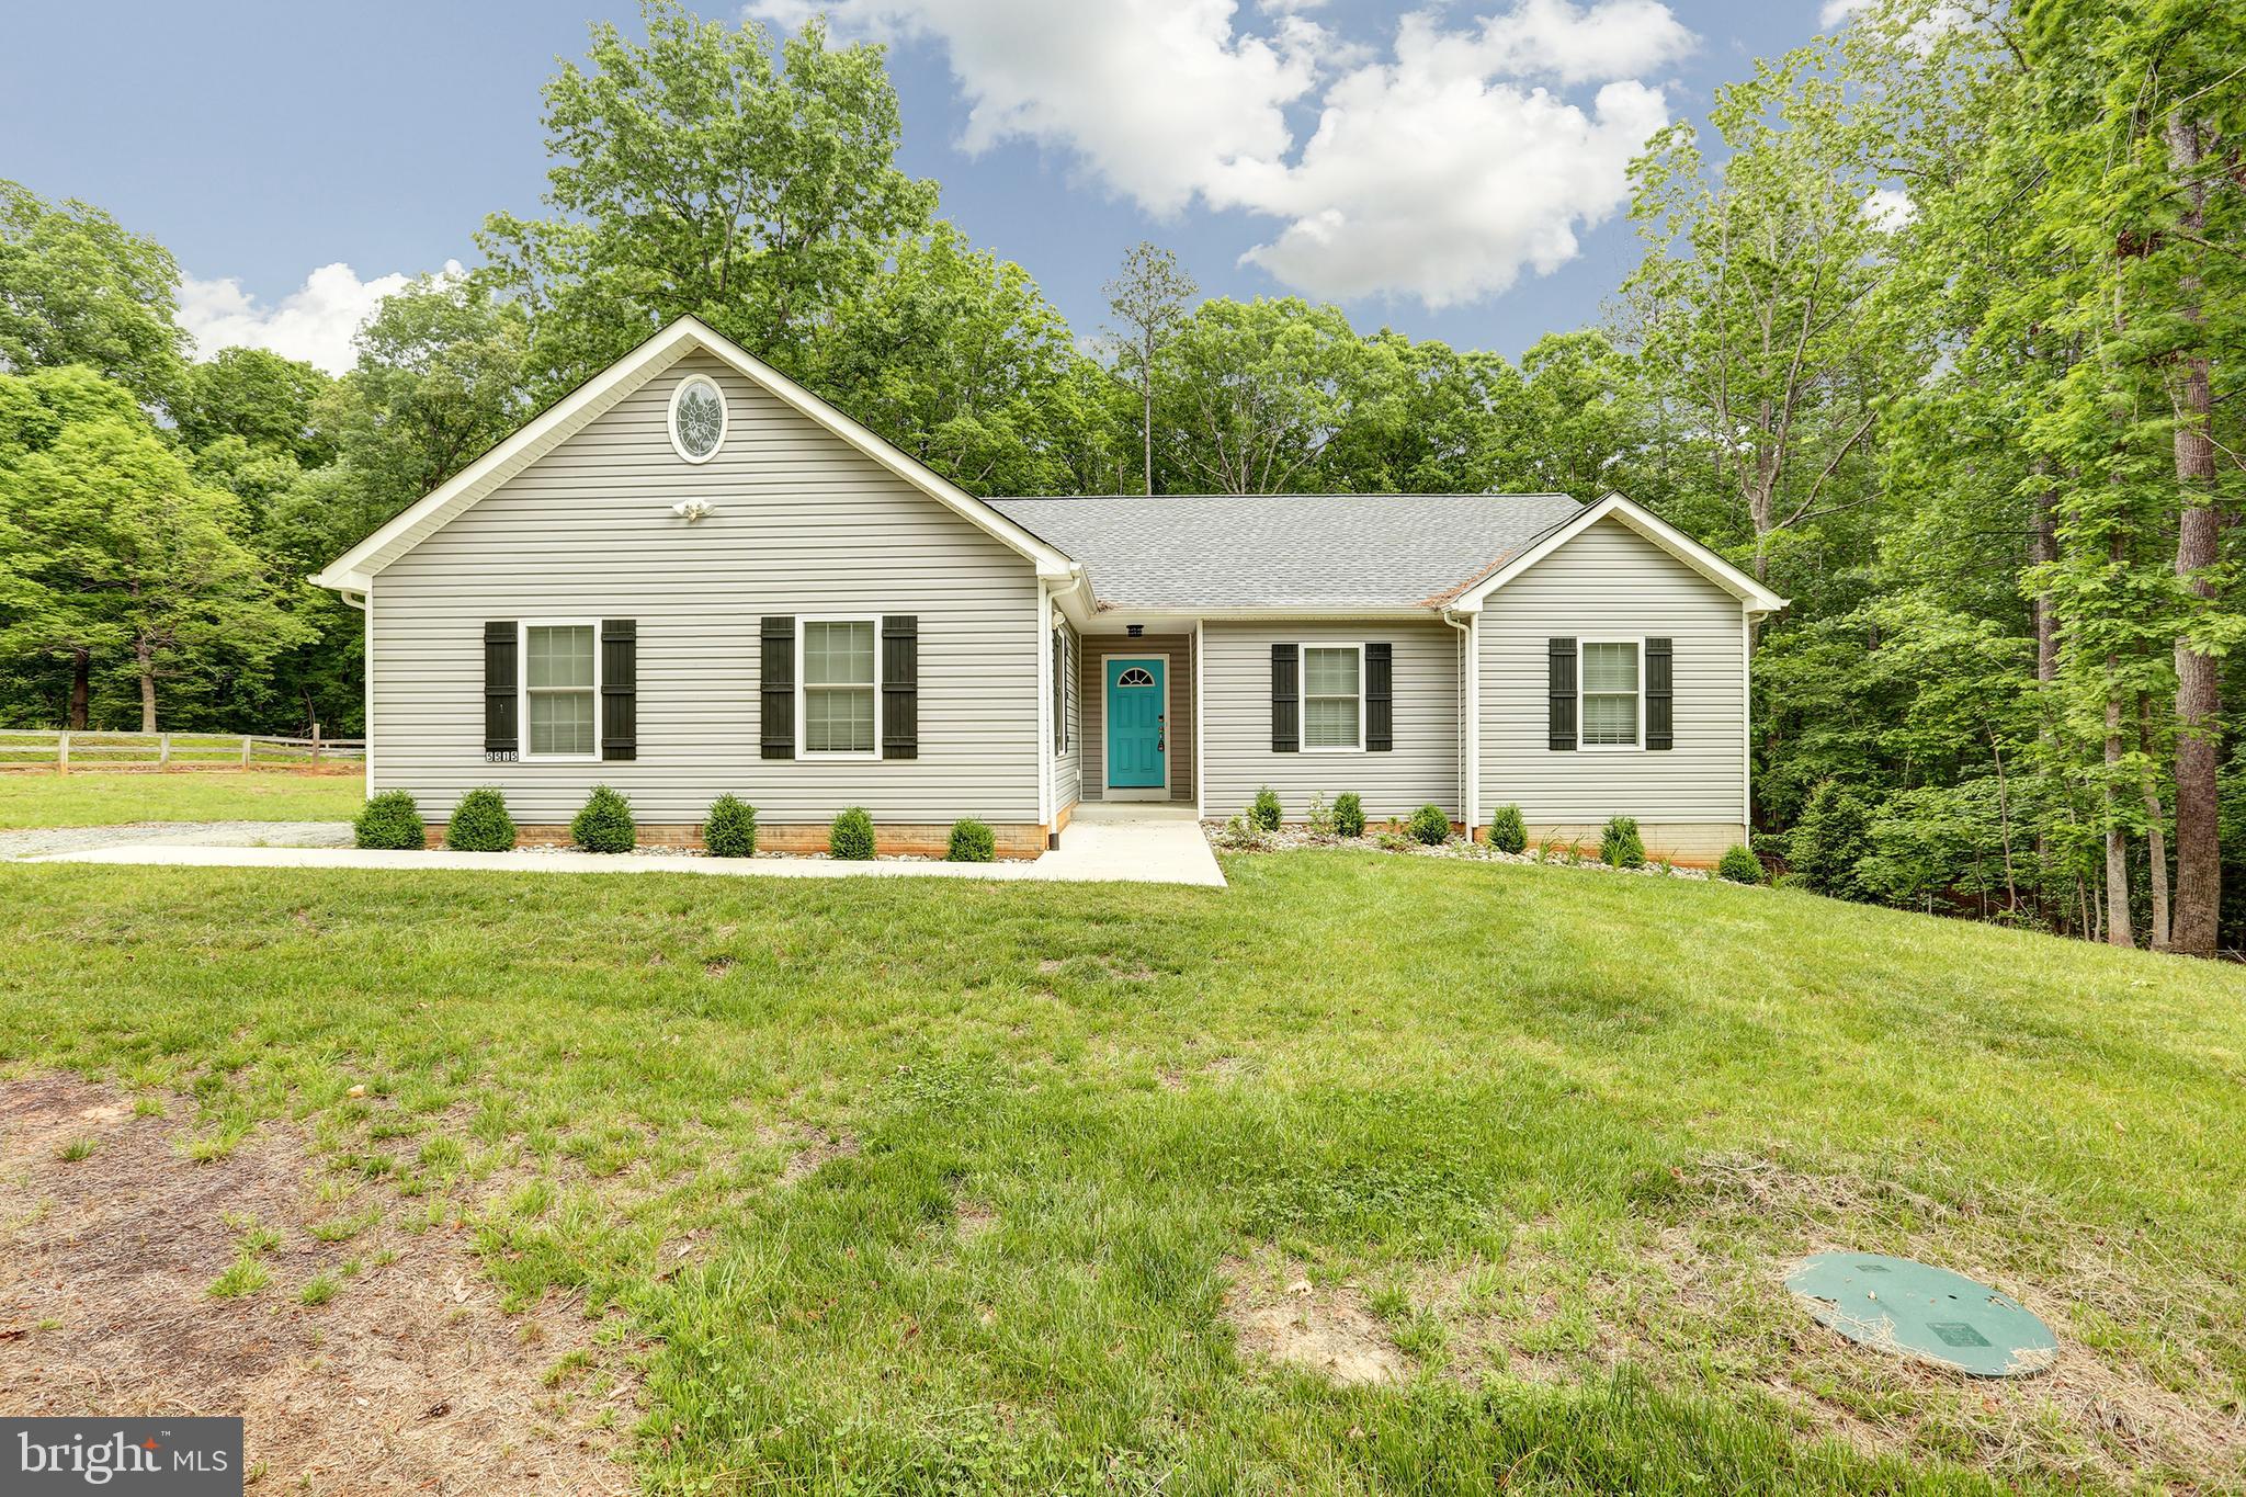
[[[721,364],[730,366],[750,384],[764,388],[784,406],[809,417],[813,424],[889,469],[939,505],[986,530],[997,541],[1035,563],[1040,577],[1065,579],[1078,572],[1069,557],[1008,516],[880,440],[804,386],[752,357],[732,339],[710,330],[692,316],[683,316],[663,332],[649,337],[593,379],[586,379],[582,386],[517,429],[508,440],[492,447],[492,451],[469,462],[371,536],[330,561],[317,577],[312,577],[312,584],[344,593],[364,593],[382,568],[420,545],[510,478],[519,476],[532,462],[584,431],[593,420],[611,411],[627,395],[696,350],[716,357]]]

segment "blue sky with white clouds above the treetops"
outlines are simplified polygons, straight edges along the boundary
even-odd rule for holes
[[[889,43],[903,164],[1080,334],[1141,238],[1208,294],[1516,357],[1637,260],[1622,162],[1846,0],[750,0]],[[1824,11],[1824,16],[1819,13]],[[339,364],[398,276],[544,189],[539,85],[631,4],[22,7],[0,175],[173,249],[209,348]],[[1242,258],[1247,256],[1247,258]]]

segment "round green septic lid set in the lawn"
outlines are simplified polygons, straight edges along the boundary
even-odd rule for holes
[[[1907,1257],[1819,1252],[1801,1259],[1786,1288],[1848,1340],[1976,1378],[2044,1371],[2060,1356],[2051,1326],[2019,1299]]]

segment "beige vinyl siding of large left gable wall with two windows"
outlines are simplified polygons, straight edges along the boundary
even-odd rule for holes
[[[723,449],[690,465],[667,404],[719,382]],[[672,505],[716,507],[687,523]],[[445,817],[496,786],[519,821],[566,821],[595,781],[642,824],[701,821],[730,790],[768,824],[1038,821],[1031,561],[705,355],[681,359],[375,577],[373,783]],[[759,624],[919,615],[919,759],[759,756]],[[638,759],[485,763],[485,619],[638,622]],[[797,720],[797,745],[802,723]]]

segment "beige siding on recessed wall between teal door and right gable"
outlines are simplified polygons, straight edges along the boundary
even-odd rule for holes
[[[1271,646],[1375,644],[1395,651],[1395,750],[1271,752]],[[1460,633],[1440,619],[1345,624],[1202,624],[1202,774],[1208,779],[1202,812],[1229,817],[1256,799],[1258,786],[1278,790],[1289,821],[1300,821],[1309,797],[1327,803],[1343,790],[1366,801],[1368,817],[1404,817],[1433,801],[1458,819],[1458,651]]]

